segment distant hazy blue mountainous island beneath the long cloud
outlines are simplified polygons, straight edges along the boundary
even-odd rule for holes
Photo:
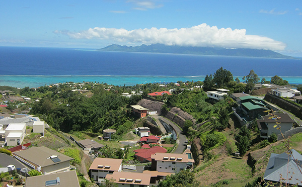
[[[263,57],[263,58],[287,58],[294,59],[294,57],[282,55],[280,53],[264,50],[264,49],[225,49],[219,47],[187,47],[164,44],[152,44],[141,46],[121,46],[109,45],[98,51],[120,51],[120,52],[147,52],[147,53],[172,53],[172,54],[196,54],[196,55],[223,55],[223,56],[246,56],[246,57]]]

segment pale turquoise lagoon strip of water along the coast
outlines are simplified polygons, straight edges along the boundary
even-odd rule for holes
[[[242,80],[243,76],[238,77]],[[302,84],[302,76],[280,76],[289,84]],[[162,76],[162,75],[0,75],[1,86],[40,87],[65,82],[100,82],[112,85],[133,86],[144,83],[169,83],[177,81],[203,81],[205,76]],[[259,76],[270,81],[270,76]]]

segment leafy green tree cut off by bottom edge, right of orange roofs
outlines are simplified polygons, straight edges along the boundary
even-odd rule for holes
[[[200,182],[195,179],[195,174],[189,170],[181,170],[175,175],[168,175],[165,180],[159,182],[159,187],[196,187]]]

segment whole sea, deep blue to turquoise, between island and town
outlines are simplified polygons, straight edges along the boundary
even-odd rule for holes
[[[223,67],[234,78],[254,70],[302,84],[301,59],[105,52],[71,48],[0,47],[0,85],[39,87],[59,82],[114,85],[203,80]]]

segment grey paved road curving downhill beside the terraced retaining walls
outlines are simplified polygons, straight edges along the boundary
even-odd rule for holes
[[[163,125],[161,124],[161,122],[159,121],[159,119],[161,119],[165,123],[171,125],[176,130],[177,135],[178,135],[178,140],[177,140],[178,147],[174,150],[173,153],[178,153],[178,154],[183,153],[183,151],[185,150],[185,148],[186,148],[186,146],[188,144],[188,140],[187,140],[186,136],[182,133],[182,130],[177,125],[175,125],[173,122],[171,122],[170,120],[167,120],[164,117],[161,117],[161,116],[152,116],[152,117],[156,119],[156,122],[160,126],[163,126]]]

